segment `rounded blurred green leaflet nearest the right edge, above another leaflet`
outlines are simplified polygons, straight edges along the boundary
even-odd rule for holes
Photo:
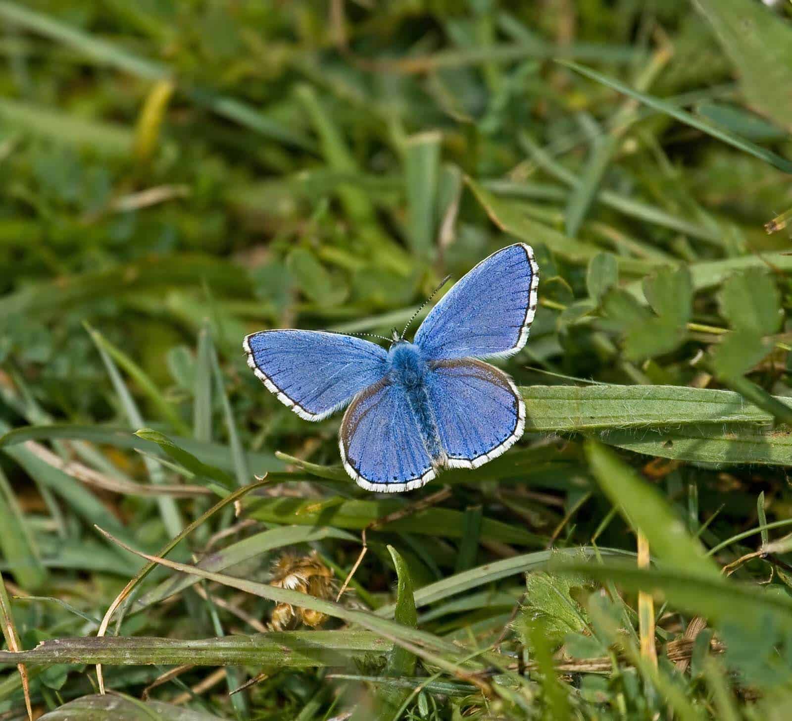
[[[721,313],[734,329],[757,335],[779,330],[781,299],[772,277],[760,269],[748,269],[726,280],[718,293]]]

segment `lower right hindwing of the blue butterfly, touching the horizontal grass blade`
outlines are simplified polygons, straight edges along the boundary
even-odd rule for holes
[[[448,467],[478,468],[523,435],[520,392],[489,363],[473,358],[436,361],[427,390]]]

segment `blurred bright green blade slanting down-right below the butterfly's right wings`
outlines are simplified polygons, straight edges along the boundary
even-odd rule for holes
[[[657,489],[624,463],[615,452],[596,441],[586,441],[586,457],[604,494],[619,508],[626,521],[642,531],[652,554],[676,569],[720,578],[720,570]]]

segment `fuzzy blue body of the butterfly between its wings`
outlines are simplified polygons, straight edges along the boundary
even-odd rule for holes
[[[440,433],[426,387],[430,371],[421,349],[406,341],[396,343],[388,353],[388,364],[392,382],[404,388],[409,410],[421,433],[426,452],[432,458],[432,465],[444,466],[446,454],[440,444]]]

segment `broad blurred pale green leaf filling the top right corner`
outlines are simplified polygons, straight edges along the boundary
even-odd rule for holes
[[[732,59],[748,103],[792,131],[792,28],[751,0],[695,0]]]

